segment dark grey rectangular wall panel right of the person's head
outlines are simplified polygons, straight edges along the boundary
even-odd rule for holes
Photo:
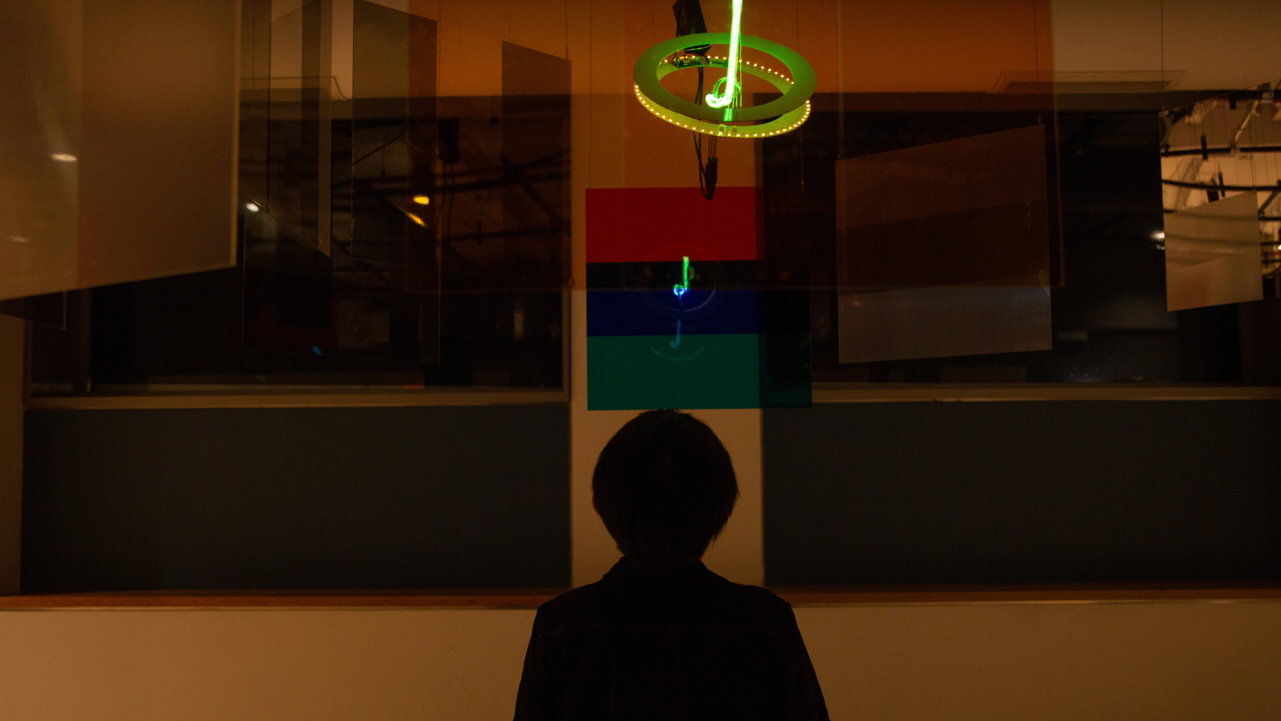
[[[765,411],[771,585],[1281,579],[1281,403]]]

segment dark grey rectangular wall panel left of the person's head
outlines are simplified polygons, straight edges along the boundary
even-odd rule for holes
[[[32,411],[24,593],[570,584],[559,405]]]

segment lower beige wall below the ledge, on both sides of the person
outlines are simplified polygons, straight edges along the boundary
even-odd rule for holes
[[[1275,721],[1281,603],[797,609],[835,721]],[[0,612],[0,718],[511,718],[533,611]]]

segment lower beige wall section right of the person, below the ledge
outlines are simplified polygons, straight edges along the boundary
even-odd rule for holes
[[[1281,603],[802,608],[831,718],[1281,717]]]

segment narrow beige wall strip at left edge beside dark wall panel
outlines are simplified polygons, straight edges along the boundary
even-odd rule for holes
[[[0,595],[18,593],[26,323],[0,316]]]

